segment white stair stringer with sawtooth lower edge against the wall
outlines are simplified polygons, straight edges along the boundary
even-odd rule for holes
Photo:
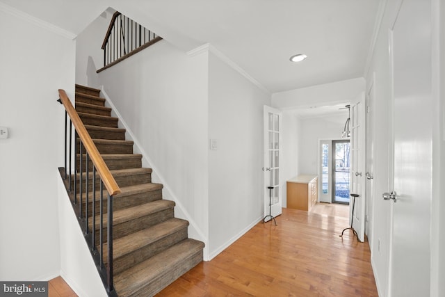
[[[188,225],[188,237],[191,239],[196,239],[196,240],[204,242],[205,246],[204,246],[204,250],[202,251],[203,258],[204,258],[204,261],[209,261],[210,258],[209,258],[208,236],[206,236],[204,234],[204,232],[202,232],[200,227],[198,227],[195,220],[193,220],[193,218],[188,213],[188,211],[186,210],[184,205],[181,203],[181,201],[177,198],[175,193],[172,191],[172,188],[170,188],[170,186],[166,182],[165,178],[161,175],[161,173],[160,173],[161,171],[158,168],[156,168],[156,166],[154,165],[154,162],[151,159],[149,159],[148,153],[145,152],[142,145],[140,145],[140,142],[138,141],[136,136],[134,136],[133,132],[131,131],[131,128],[129,127],[129,125],[127,125],[127,122],[125,122],[125,120],[120,115],[118,109],[113,104],[113,100],[111,99],[111,97],[109,97],[108,94],[106,94],[103,85],[100,86],[100,90],[101,90],[102,97],[104,97],[106,99],[105,106],[111,107],[111,109],[112,109],[111,114],[115,118],[119,119],[119,121],[118,121],[119,127],[121,128],[121,125],[122,125],[122,128],[126,129],[126,131],[125,131],[126,139],[129,141],[133,141],[133,143],[134,143],[133,151],[135,153],[142,154],[143,167],[152,168],[152,170],[153,170],[152,179],[154,179],[154,181],[158,182],[159,184],[163,184],[163,196],[167,197],[168,200],[172,200],[176,203],[175,216],[177,218],[182,218],[184,220],[188,220],[188,223],[190,224],[190,225]],[[179,210],[179,211],[177,211],[177,210]]]

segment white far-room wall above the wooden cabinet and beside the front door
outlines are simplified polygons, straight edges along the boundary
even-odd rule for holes
[[[301,119],[298,152],[298,172],[305,175],[318,174],[318,140],[341,139],[348,111],[344,115],[329,115]]]

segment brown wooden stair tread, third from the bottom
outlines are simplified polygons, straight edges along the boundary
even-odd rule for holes
[[[143,216],[149,216],[150,214],[154,214],[158,211],[161,211],[163,209],[173,208],[175,207],[175,202],[170,200],[156,200],[153,202],[145,203],[142,205],[138,205],[136,207],[129,207],[126,209],[119,209],[113,211],[113,225],[118,225],[124,222],[127,222],[129,220],[133,220],[135,218],[140,218]],[[100,216],[97,215],[95,222],[96,222],[96,229],[99,229],[100,227]],[[108,222],[108,216],[104,214],[104,226]]]

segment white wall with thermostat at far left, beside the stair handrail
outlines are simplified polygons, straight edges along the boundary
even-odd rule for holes
[[[63,166],[63,106],[74,90],[74,41],[0,6],[0,280],[60,274],[56,168]]]

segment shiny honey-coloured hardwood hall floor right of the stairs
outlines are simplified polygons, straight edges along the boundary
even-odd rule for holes
[[[378,296],[368,243],[339,237],[348,218],[283,209],[277,224],[258,223],[157,296]]]

